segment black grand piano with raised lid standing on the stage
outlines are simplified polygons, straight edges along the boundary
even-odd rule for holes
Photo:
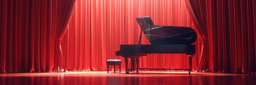
[[[116,51],[117,56],[124,57],[126,64],[126,74],[136,70],[189,70],[191,71],[192,57],[195,54],[195,42],[197,36],[195,30],[188,27],[157,26],[153,24],[150,17],[137,17],[137,22],[141,27],[138,45],[120,45],[120,50]],[[141,33],[144,32],[150,45],[140,45]],[[185,53],[189,56],[189,69],[164,69],[164,68],[139,68],[139,57],[151,53]],[[130,66],[128,68],[128,58]],[[135,64],[136,69],[135,69]]]

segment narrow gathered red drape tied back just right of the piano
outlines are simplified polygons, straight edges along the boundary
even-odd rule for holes
[[[200,37],[203,40],[202,51],[200,55],[200,62],[198,70],[202,72],[208,71],[209,66],[209,41],[208,41],[208,20],[206,0],[185,0],[186,6],[189,10],[195,26],[198,28]]]

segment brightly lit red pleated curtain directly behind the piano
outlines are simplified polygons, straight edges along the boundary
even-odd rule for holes
[[[140,27],[135,18],[143,16],[151,16],[156,25],[195,28],[184,0],[77,0],[62,42],[67,70],[103,71],[109,59],[122,60],[125,70],[124,58],[115,56],[115,51],[121,44],[138,43]],[[141,44],[149,44],[144,34]],[[193,69],[197,70],[199,37],[195,44]],[[186,54],[151,54],[140,60],[141,68],[189,68]]]

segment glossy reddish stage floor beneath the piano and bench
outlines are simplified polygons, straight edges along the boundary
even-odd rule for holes
[[[256,74],[141,71],[0,73],[0,85],[256,85]]]

